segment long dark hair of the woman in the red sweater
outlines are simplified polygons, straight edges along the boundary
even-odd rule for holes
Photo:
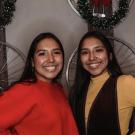
[[[28,52],[28,56],[27,56],[27,59],[26,59],[26,64],[25,64],[25,67],[24,67],[24,71],[22,73],[22,76],[21,76],[19,82],[26,82],[26,81],[36,82],[35,72],[34,72],[34,69],[32,67],[32,60],[33,60],[34,53],[36,51],[36,48],[37,48],[39,42],[46,39],[46,38],[51,38],[51,39],[55,40],[58,43],[58,45],[59,45],[59,47],[60,47],[60,49],[62,51],[62,56],[63,56],[63,60],[64,60],[64,49],[63,49],[61,41],[54,34],[52,34],[50,32],[40,33],[39,35],[37,35],[35,37],[35,39],[31,43],[31,46],[30,46],[30,49],[29,49],[29,52]],[[63,67],[62,67],[62,70],[63,70]],[[61,77],[62,70],[54,78],[54,81]]]

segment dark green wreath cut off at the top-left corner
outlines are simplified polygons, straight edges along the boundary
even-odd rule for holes
[[[16,0],[1,0],[0,5],[0,27],[4,28],[11,23],[15,11]]]

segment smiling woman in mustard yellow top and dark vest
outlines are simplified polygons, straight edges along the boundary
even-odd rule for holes
[[[78,47],[70,102],[80,135],[129,135],[135,78],[123,75],[109,40],[88,32]]]

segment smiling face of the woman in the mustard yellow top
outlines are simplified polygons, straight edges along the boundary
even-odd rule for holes
[[[80,53],[83,68],[93,77],[107,71],[108,54],[103,43],[94,37],[83,41]]]

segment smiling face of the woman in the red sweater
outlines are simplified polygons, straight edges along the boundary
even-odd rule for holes
[[[37,45],[33,67],[37,79],[52,82],[63,67],[63,53],[59,44],[52,38],[46,38]]]

